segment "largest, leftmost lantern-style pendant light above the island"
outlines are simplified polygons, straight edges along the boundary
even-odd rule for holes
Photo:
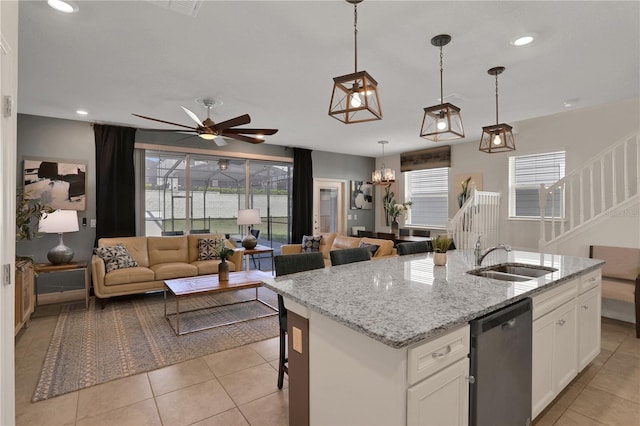
[[[333,78],[329,105],[329,115],[346,124],[382,119],[378,82],[368,72],[358,71],[358,3],[362,1],[346,0],[353,4],[354,72]]]

